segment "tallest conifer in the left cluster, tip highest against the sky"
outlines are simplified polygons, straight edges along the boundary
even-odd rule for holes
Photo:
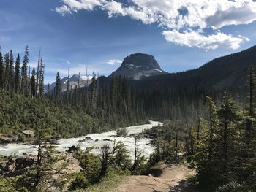
[[[23,58],[23,64],[21,67],[21,83],[20,83],[20,93],[23,95],[28,95],[28,64],[29,64],[29,45],[25,48],[25,55]]]

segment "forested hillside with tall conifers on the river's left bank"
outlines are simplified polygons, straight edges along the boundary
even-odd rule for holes
[[[44,75],[45,61],[40,52],[37,69],[30,68],[29,46],[23,61],[19,54],[14,60],[12,50],[4,58],[0,53],[1,133],[48,129],[53,136],[75,137],[146,121],[138,94],[130,91],[125,77],[115,77],[110,87],[99,88],[94,74],[91,86],[83,89],[80,78],[73,88],[67,77],[67,91],[62,92],[57,72],[55,88],[45,94]]]

